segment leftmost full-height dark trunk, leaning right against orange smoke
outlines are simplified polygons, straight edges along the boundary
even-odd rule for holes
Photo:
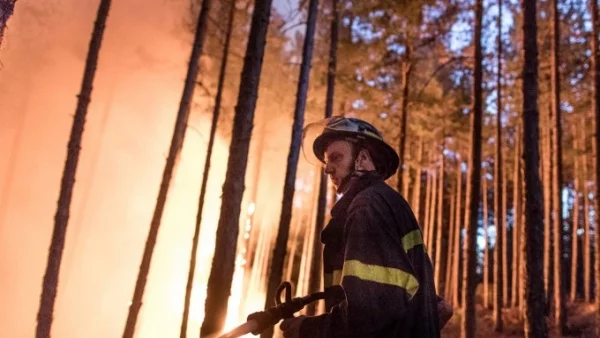
[[[48,250],[48,263],[46,265],[46,272],[44,273],[40,307],[37,313],[37,338],[50,337],[52,330],[54,303],[58,291],[58,276],[65,247],[65,237],[67,235],[69,211],[71,208],[73,187],[75,186],[75,174],[77,172],[77,163],[79,162],[79,151],[81,150],[81,138],[83,136],[83,127],[85,125],[87,109],[92,97],[92,85],[94,83],[94,76],[96,75],[98,55],[100,54],[100,47],[102,46],[102,38],[104,36],[106,19],[108,18],[108,12],[110,10],[110,3],[110,0],[102,0],[100,2],[85,62],[85,72],[81,82],[81,90],[78,95],[77,108],[75,110],[71,135],[67,145],[67,159],[61,179],[56,214],[54,215],[54,229],[52,231],[50,248]]]

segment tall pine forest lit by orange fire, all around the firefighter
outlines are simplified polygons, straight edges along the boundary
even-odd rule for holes
[[[345,116],[399,154],[442,337],[600,337],[598,15],[0,0],[0,336],[212,338],[322,290],[340,195],[302,128]]]

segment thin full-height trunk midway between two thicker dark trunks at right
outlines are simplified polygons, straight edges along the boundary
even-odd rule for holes
[[[496,158],[494,161],[494,224],[496,225],[496,248],[494,250],[494,330],[502,332],[502,307],[504,305],[504,278],[508,271],[504,269],[506,256],[504,238],[504,210],[502,210],[502,0],[498,1],[498,74],[496,74],[497,106],[496,106]]]

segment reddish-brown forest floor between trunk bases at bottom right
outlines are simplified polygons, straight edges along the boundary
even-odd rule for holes
[[[567,325],[570,334],[561,336],[556,331],[550,331],[550,337],[595,337],[594,312],[596,307],[586,303],[572,303],[567,305]],[[502,318],[504,322],[503,332],[494,331],[494,320],[492,310],[484,309],[477,304],[477,337],[500,338],[500,337],[524,337],[523,321],[520,320],[517,308],[504,309]],[[442,330],[442,337],[460,337],[460,315],[455,312],[450,322]]]

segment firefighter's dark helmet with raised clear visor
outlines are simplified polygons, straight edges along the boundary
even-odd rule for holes
[[[307,125],[302,134],[304,156],[312,164],[325,163],[325,150],[336,140],[347,140],[366,148],[384,179],[398,169],[398,154],[383,140],[381,133],[372,124],[351,117],[333,116]]]

